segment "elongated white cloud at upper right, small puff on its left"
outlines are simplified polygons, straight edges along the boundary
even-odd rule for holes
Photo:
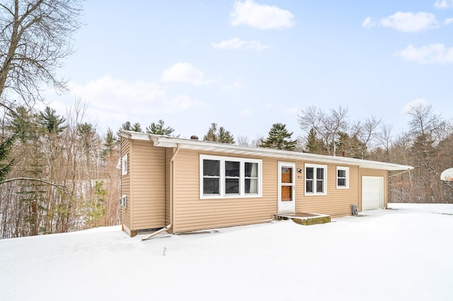
[[[436,17],[432,13],[425,12],[402,13],[398,11],[398,13],[377,21],[373,21],[371,17],[367,17],[362,22],[362,27],[365,28],[371,28],[377,25],[385,28],[393,28],[403,33],[418,33],[439,27]]]

